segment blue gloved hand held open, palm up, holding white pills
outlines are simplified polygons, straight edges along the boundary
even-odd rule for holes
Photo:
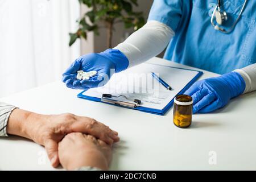
[[[90,53],[76,59],[63,73],[62,81],[68,88],[84,89],[105,85],[113,73],[125,70],[129,65],[127,57],[117,49],[107,49],[101,53]],[[77,71],[97,71],[98,74],[89,80],[77,80]]]

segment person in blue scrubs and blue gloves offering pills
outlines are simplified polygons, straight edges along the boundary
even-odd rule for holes
[[[63,74],[72,89],[95,88],[104,77],[77,80],[80,69],[98,75],[121,72],[158,55],[164,59],[219,73],[195,82],[185,92],[193,113],[209,113],[230,99],[256,90],[256,1],[155,0],[148,22],[125,42],[76,59]]]

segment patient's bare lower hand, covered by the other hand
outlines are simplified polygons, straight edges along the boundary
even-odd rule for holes
[[[107,170],[112,159],[112,147],[91,135],[71,133],[59,143],[61,165],[68,170],[96,167]]]

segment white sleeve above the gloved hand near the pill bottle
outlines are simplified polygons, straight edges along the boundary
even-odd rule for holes
[[[256,90],[256,63],[242,69],[236,69],[235,72],[240,73],[243,80],[245,80],[246,86],[243,93],[249,93]]]

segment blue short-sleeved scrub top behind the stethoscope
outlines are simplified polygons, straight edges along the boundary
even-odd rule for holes
[[[226,30],[236,20],[244,0],[222,0],[228,21]],[[171,27],[174,38],[164,59],[215,73],[227,73],[256,63],[256,1],[247,1],[236,27],[229,34],[214,30],[211,14],[217,0],[155,0],[148,20]]]

